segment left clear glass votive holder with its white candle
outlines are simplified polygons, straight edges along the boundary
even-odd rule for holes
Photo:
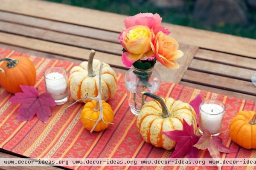
[[[62,67],[52,67],[44,72],[46,91],[52,95],[57,105],[68,100],[67,71]]]

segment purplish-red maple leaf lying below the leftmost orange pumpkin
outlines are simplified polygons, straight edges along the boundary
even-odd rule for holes
[[[38,94],[38,90],[34,86],[20,86],[23,92],[18,92],[9,99],[12,103],[19,103],[22,106],[18,109],[18,122],[30,121],[36,114],[37,117],[46,122],[51,115],[50,106],[56,103],[49,93]]]

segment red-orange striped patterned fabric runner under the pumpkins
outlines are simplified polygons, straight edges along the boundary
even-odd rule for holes
[[[56,61],[39,58],[14,52],[9,49],[0,49],[0,58],[23,55],[30,58],[37,69],[36,86],[39,92],[44,92],[44,71],[52,66],[60,66],[69,71],[72,66],[77,65],[67,61]],[[80,121],[80,112],[83,104],[75,104],[68,109],[64,115],[64,109],[73,102],[69,100],[61,106],[51,107],[52,115],[46,123],[34,117],[31,121],[17,123],[18,104],[12,104],[8,99],[12,96],[0,87],[0,148],[31,158],[168,158],[172,151],[153,147],[143,142],[136,128],[136,117],[131,114],[128,106],[128,92],[124,85],[124,76],[117,75],[118,89],[114,98],[108,103],[114,110],[114,125],[100,133],[90,133],[83,128]],[[255,158],[255,150],[245,150],[233,143],[229,138],[228,126],[231,118],[239,110],[250,109],[256,111],[254,101],[246,101],[229,96],[206,92],[199,89],[192,89],[178,84],[162,83],[159,95],[172,97],[185,102],[191,101],[196,95],[202,98],[215,98],[224,101],[226,112],[224,115],[221,138],[226,146],[237,153],[221,154],[226,158]],[[198,157],[209,158],[208,151],[199,151]],[[170,167],[68,167],[71,169],[151,169],[164,170]],[[178,169],[203,169],[206,167],[171,167]],[[223,167],[224,170],[231,170],[233,167]],[[250,169],[240,167],[239,169]]]

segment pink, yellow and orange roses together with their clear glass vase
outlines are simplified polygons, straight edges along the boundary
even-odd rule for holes
[[[168,35],[167,28],[161,26],[159,14],[140,13],[124,20],[125,29],[119,40],[123,47],[122,62],[132,68],[125,75],[125,86],[133,94],[129,105],[131,112],[138,114],[145,103],[140,92],[154,93],[160,86],[160,75],[154,70],[157,61],[170,69],[178,69],[175,61],[183,56],[177,50],[178,42]]]

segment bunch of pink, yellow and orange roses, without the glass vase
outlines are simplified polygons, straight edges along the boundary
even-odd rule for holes
[[[179,68],[175,60],[181,58],[183,52],[177,50],[178,42],[168,36],[170,32],[161,26],[161,21],[159,14],[151,13],[140,13],[124,20],[125,29],[118,39],[123,47],[125,66],[149,69],[149,64],[152,66],[157,60],[167,68]]]

